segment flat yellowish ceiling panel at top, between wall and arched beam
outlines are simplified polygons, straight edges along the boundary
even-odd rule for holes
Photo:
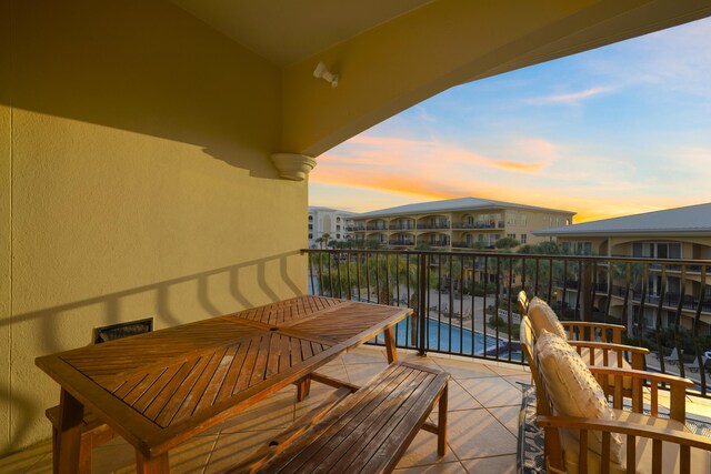
[[[278,65],[306,59],[432,0],[172,0]]]

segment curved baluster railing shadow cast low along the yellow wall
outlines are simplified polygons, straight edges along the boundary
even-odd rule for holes
[[[41,339],[40,343],[44,350],[44,354],[51,354],[68,349],[60,346],[59,342],[54,337],[58,326],[61,324],[61,317],[63,314],[98,304],[103,305],[106,311],[102,321],[106,321],[107,324],[118,323],[122,321],[120,314],[121,300],[141,294],[154,295],[157,320],[162,325],[178,325],[184,323],[184,321],[179,320],[169,309],[171,288],[191,282],[194,283],[194,286],[197,289],[196,300],[199,303],[199,306],[204,311],[204,313],[217,316],[221,315],[223,312],[218,310],[217,305],[214,305],[210,301],[208,286],[210,278],[220,275],[227,276],[229,280],[229,294],[234,300],[236,306],[246,309],[253,307],[259,304],[264,304],[266,302],[256,301],[253,295],[244,294],[243,290],[241,289],[242,285],[240,280],[240,273],[244,271],[249,271],[250,273],[254,274],[254,276],[250,278],[257,281],[259,290],[261,291],[261,293],[263,293],[263,295],[267,296],[267,299],[269,300],[268,302],[276,302],[290,296],[299,296],[303,294],[303,292],[299,289],[298,284],[289,276],[288,272],[289,258],[294,258],[299,254],[299,251],[284,252],[264,259],[248,261],[234,265],[210,270],[207,272],[194,273],[172,280],[167,280],[160,283],[137,286],[131,290],[96,296],[88,300],[48,307],[40,311],[18,314],[11,319],[0,320],[0,326],[31,321],[41,321],[42,331],[39,331],[37,333],[37,337]],[[267,268],[272,268],[274,265],[278,265],[279,268],[278,271],[281,276],[280,282],[283,282],[283,285],[288,290],[288,295],[279,296],[280,290],[283,293],[284,289],[274,289],[267,282]],[[270,280],[276,281],[277,279],[272,278]],[[180,291],[184,290],[181,289]],[[34,354],[34,356],[40,355],[43,354]],[[30,423],[37,420],[40,414],[43,414],[47,406],[39,406],[36,401],[23,397],[21,394],[18,394],[17,391],[12,393],[12,400],[8,400],[8,387],[0,386],[0,405],[12,405],[17,418],[27,421],[27,423],[21,423],[21,425],[17,426],[17,428],[13,430],[12,443],[10,446],[8,446],[8,452],[12,452],[21,446],[24,446],[27,442],[26,438],[32,431]]]

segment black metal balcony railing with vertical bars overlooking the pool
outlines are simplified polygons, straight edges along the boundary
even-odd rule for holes
[[[624,325],[624,343],[650,350],[647,370],[690,377],[692,392],[709,395],[711,361],[704,366],[703,355],[711,351],[711,261],[472,251],[303,252],[309,254],[310,293],[414,309],[415,316],[395,327],[399,346],[523,364],[517,305],[523,289],[529,297],[545,300],[561,320]],[[668,266],[673,268],[673,291],[667,290]],[[682,354],[679,361],[670,356],[674,350]]]

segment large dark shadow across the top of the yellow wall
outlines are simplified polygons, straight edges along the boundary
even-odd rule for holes
[[[278,151],[278,68],[174,4],[13,2],[0,30],[8,21],[0,103],[193,144],[278,178],[263,155]]]

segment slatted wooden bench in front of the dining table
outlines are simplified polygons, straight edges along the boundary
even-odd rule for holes
[[[442,456],[448,381],[449,374],[439,370],[407,362],[391,364],[321,417],[294,423],[230,472],[391,472],[420,428],[438,435],[437,451]],[[337,391],[334,399],[351,390]],[[437,403],[438,424],[433,425],[427,417]]]

